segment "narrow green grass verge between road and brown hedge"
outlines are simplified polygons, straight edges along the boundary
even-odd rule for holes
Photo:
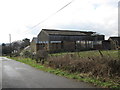
[[[100,86],[100,87],[104,87],[104,88],[119,88],[120,89],[120,85],[116,82],[113,82],[113,81],[104,82],[97,78],[89,77],[85,74],[69,73],[67,71],[63,71],[60,69],[54,69],[54,68],[49,67],[47,64],[45,64],[45,65],[38,64],[35,62],[35,60],[32,60],[30,58],[22,58],[22,57],[8,57],[8,58],[28,64],[32,67],[35,67],[35,68],[40,69],[45,72],[53,73],[53,74],[56,74],[59,76],[64,76],[66,78],[75,79],[75,80],[83,81],[83,82],[87,82],[87,83],[92,83],[95,86]]]

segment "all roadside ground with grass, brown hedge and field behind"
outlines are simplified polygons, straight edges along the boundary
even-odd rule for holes
[[[40,62],[35,59],[11,57],[37,69],[67,78],[93,83],[100,87],[120,88],[118,50],[82,51],[49,54]]]

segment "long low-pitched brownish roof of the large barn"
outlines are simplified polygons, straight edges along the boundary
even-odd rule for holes
[[[55,30],[55,29],[42,29],[48,35],[91,35],[96,32],[92,31],[75,31],[75,30]]]

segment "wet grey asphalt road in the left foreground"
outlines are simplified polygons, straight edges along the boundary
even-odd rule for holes
[[[7,58],[0,57],[0,70],[2,88],[94,88],[90,84],[40,71]]]

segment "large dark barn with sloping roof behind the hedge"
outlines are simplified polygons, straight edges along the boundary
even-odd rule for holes
[[[37,51],[50,53],[101,49],[104,35],[96,32],[42,29],[37,36]]]

